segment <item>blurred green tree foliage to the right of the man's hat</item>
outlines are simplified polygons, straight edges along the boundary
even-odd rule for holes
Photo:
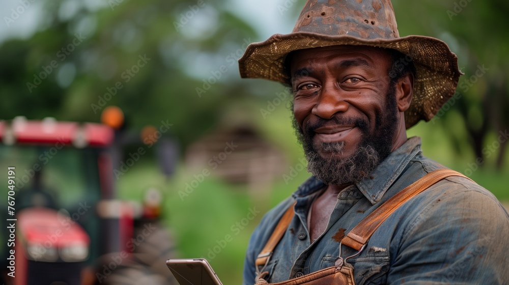
[[[426,35],[445,41],[465,73],[460,77],[458,99],[449,101],[433,123],[450,130],[446,133],[455,141],[458,154],[468,140],[476,158],[484,161],[497,156],[496,167],[502,168],[507,141],[495,150],[487,147],[494,143],[487,137],[498,138],[509,126],[509,38],[501,24],[509,3],[394,0],[393,6],[401,36]],[[458,121],[457,115],[463,120]],[[465,132],[457,130],[462,127]]]

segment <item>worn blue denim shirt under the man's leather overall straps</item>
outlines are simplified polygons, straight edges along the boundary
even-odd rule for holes
[[[445,168],[424,156],[412,137],[392,152],[369,177],[337,195],[324,233],[309,240],[309,206],[326,185],[315,177],[270,210],[253,232],[244,263],[244,282],[256,278],[254,262],[284,212],[295,215],[274,249],[265,279],[269,283],[334,266],[341,239],[363,218],[406,186]],[[341,246],[343,258],[356,251]],[[509,215],[488,190],[462,177],[446,178],[385,220],[364,250],[348,259],[356,285],[509,284]]]

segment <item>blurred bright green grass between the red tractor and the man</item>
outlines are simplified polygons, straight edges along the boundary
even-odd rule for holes
[[[295,179],[304,180],[307,174]],[[121,196],[139,200],[143,190],[163,190],[164,223],[171,229],[180,258],[206,258],[225,284],[242,281],[244,254],[249,237],[263,214],[287,197],[294,185],[279,182],[277,191],[254,202],[247,189],[232,187],[207,177],[188,196],[179,190],[192,180],[181,170],[171,181],[165,181],[156,167],[140,165],[119,181]],[[130,189],[130,190],[129,190]],[[253,213],[256,215],[252,220]]]

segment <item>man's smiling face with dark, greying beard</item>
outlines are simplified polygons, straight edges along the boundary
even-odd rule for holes
[[[324,183],[360,181],[398,142],[401,84],[391,82],[391,64],[387,51],[367,46],[292,53],[294,124],[308,170]]]

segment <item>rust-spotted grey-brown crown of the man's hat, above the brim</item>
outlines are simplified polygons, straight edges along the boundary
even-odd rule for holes
[[[293,33],[361,39],[399,38],[389,0],[307,0]]]

